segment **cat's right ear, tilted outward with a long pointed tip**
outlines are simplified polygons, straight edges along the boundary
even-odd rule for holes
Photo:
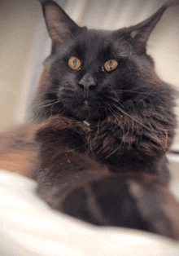
[[[150,18],[129,28],[130,38],[133,38],[134,40],[136,40],[139,46],[141,46],[143,51],[146,50],[146,42],[152,30],[155,28],[155,25],[159,22],[164,11],[168,7],[172,7],[175,5],[179,5],[179,0],[171,0],[171,1],[165,2],[164,5],[160,7],[159,10],[156,11],[155,14],[152,15]]]

